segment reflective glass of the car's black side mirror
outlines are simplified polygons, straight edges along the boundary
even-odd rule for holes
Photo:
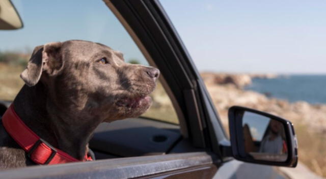
[[[287,141],[283,123],[257,113],[242,111],[244,152],[256,160],[284,162]]]

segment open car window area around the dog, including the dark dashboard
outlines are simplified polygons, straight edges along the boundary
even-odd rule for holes
[[[149,65],[124,27],[102,1],[12,1],[24,21],[17,31],[0,31],[0,100],[11,102],[24,84],[19,75],[34,47],[87,40],[123,53],[126,62]],[[71,7],[75,7],[71,11]],[[60,13],[57,13],[60,12]],[[162,80],[160,77],[159,80]],[[90,147],[97,159],[161,155],[181,138],[179,121],[165,87],[157,82],[153,103],[139,118],[103,123]]]

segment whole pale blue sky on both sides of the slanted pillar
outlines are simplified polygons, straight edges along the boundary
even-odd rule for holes
[[[0,31],[0,50],[52,41],[106,44],[145,58],[100,0],[12,0],[24,28]],[[91,3],[92,2],[92,3]],[[326,1],[160,1],[199,71],[326,73]]]

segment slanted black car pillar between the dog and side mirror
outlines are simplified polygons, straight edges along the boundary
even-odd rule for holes
[[[182,135],[196,147],[222,156],[225,130],[205,84],[176,29],[158,1],[104,0],[150,65],[161,70],[160,81],[178,114]]]

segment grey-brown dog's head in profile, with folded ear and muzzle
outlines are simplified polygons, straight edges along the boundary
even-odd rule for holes
[[[144,113],[158,75],[110,47],[72,40],[36,47],[20,77],[28,86],[42,83],[48,110],[111,122]]]

